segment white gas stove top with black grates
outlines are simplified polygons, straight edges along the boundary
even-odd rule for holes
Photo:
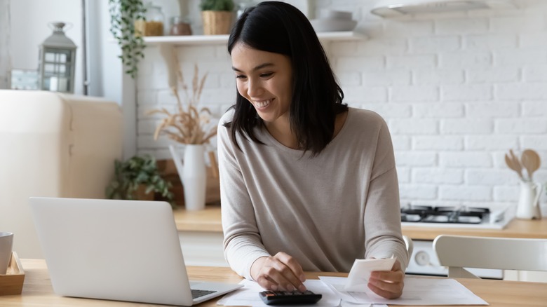
[[[403,226],[503,229],[514,217],[509,207],[404,205]]]

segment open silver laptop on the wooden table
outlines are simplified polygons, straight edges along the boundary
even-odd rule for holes
[[[166,202],[30,198],[29,203],[56,294],[191,306],[242,287],[188,280]]]

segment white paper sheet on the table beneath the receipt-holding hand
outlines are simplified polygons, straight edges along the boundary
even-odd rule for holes
[[[342,301],[349,303],[384,303],[389,305],[488,305],[469,289],[450,278],[405,278],[403,295],[398,299],[384,299],[372,292],[347,292],[348,278],[319,277]]]

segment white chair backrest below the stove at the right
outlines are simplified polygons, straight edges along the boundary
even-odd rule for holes
[[[547,239],[440,235],[433,249],[449,278],[478,278],[465,268],[547,271]]]

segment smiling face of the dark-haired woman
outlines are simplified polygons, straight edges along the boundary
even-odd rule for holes
[[[236,73],[239,95],[245,97],[269,124],[288,123],[292,101],[290,59],[237,43],[231,50],[232,69]]]

